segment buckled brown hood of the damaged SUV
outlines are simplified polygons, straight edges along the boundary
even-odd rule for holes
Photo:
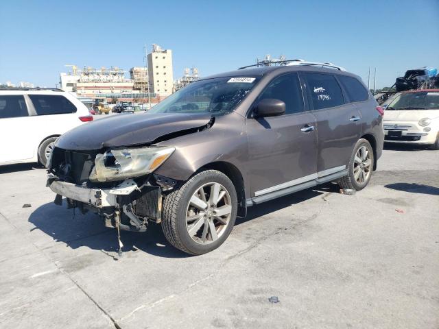
[[[167,134],[207,125],[211,114],[119,114],[80,125],[63,134],[56,147],[72,150],[151,144]]]

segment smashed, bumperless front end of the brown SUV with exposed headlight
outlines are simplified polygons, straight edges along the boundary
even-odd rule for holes
[[[162,193],[177,182],[154,175],[174,147],[113,148],[72,151],[55,147],[49,160],[47,186],[68,208],[96,212],[105,225],[145,232],[149,221],[160,223]]]

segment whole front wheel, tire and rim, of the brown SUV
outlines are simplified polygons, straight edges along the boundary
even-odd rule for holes
[[[165,196],[162,230],[174,247],[205,254],[226,241],[236,215],[235,186],[224,173],[206,170]]]

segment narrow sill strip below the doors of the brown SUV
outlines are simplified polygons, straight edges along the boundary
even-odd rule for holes
[[[261,204],[263,202],[270,201],[272,199],[277,199],[278,197],[283,197],[285,195],[289,195],[298,191],[306,190],[307,188],[311,188],[319,184],[337,180],[338,178],[342,178],[347,174],[348,174],[348,169],[344,169],[342,171],[337,171],[337,173],[331,173],[331,175],[326,175],[324,177],[316,178],[314,180],[309,180],[308,182],[302,184],[297,184],[287,188],[282,188],[281,190],[266,193],[257,197],[252,197],[246,200],[246,205],[252,206],[254,204]]]

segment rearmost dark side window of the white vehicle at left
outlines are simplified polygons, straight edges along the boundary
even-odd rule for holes
[[[60,95],[29,95],[36,114],[65,114],[76,112],[75,106],[64,96]]]

